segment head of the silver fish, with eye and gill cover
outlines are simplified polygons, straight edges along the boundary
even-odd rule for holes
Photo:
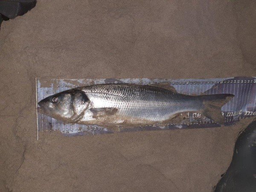
[[[47,116],[74,122],[84,113],[89,102],[83,91],[71,89],[48,96],[38,102],[38,105]]]

